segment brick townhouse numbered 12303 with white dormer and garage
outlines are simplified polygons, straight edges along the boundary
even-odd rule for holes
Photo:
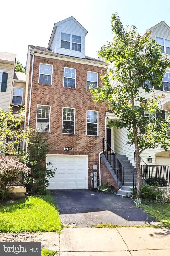
[[[54,24],[48,47],[29,45],[26,125],[47,135],[47,155],[57,171],[50,189],[90,188],[98,172],[107,104],[93,102],[89,85],[101,87],[108,64],[85,56],[87,30],[69,17]]]

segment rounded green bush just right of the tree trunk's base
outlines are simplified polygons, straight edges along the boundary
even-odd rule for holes
[[[156,200],[156,190],[155,187],[149,184],[143,184],[141,186],[141,196],[147,201]]]

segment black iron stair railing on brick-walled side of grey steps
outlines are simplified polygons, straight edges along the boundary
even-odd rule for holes
[[[102,139],[102,154],[105,155],[115,172],[116,192],[124,185],[124,167],[105,139]]]

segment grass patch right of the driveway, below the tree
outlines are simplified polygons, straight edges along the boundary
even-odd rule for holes
[[[141,204],[139,206],[158,221],[162,222],[163,226],[170,228],[170,203],[167,204]]]

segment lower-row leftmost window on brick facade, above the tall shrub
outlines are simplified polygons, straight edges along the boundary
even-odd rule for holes
[[[37,105],[36,131],[49,132],[50,130],[50,106]]]

